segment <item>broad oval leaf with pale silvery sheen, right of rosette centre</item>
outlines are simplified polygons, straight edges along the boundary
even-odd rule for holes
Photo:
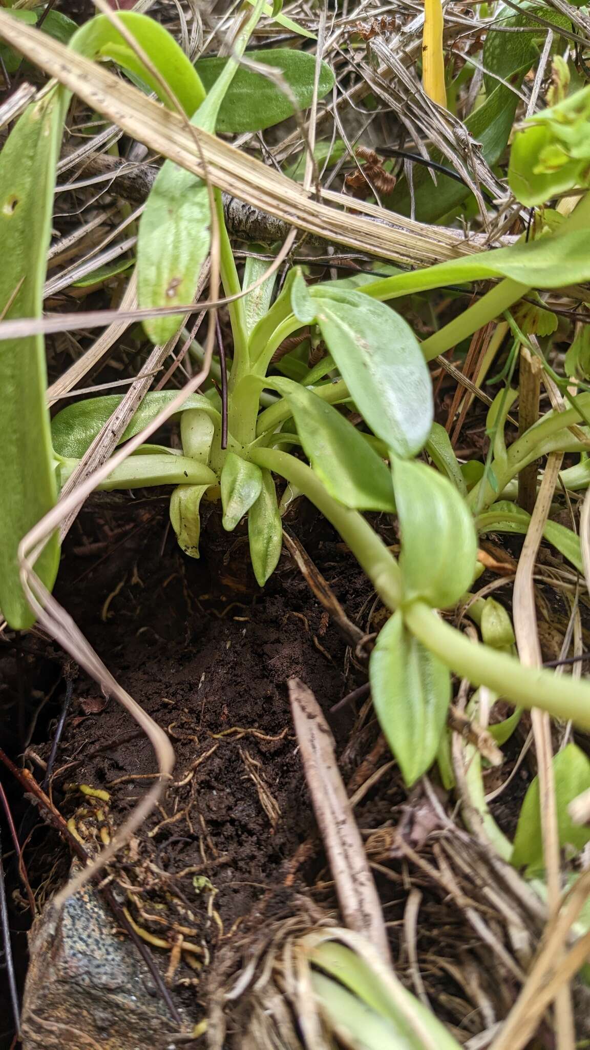
[[[412,329],[383,303],[374,309],[377,302],[362,292],[319,285],[310,294],[321,334],[358,411],[397,456],[415,456],[433,425],[433,390]]]

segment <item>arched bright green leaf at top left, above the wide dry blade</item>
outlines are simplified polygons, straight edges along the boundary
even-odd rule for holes
[[[142,50],[169,85],[185,112],[191,117],[203,102],[205,89],[198,74],[182,47],[160,22],[147,15],[127,10],[119,12],[117,18],[129,33],[133,34]],[[152,91],[155,91],[165,106],[174,108],[170,96],[163,90],[160,81],[131,50],[125,38],[106,15],[98,15],[86,22],[71,38],[70,47],[88,58],[110,59],[117,62],[126,71],[140,77]]]

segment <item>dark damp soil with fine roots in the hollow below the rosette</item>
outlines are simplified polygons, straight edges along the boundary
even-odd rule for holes
[[[262,594],[245,532],[225,533],[213,509],[202,558],[190,560],[177,548],[167,514],[165,496],[131,503],[93,497],[64,547],[56,595],[174,747],[173,784],[112,867],[117,880],[134,887],[130,914],[164,940],[184,929],[185,940],[212,957],[258,902],[270,894],[285,899],[288,862],[314,828],[289,678],[301,678],[328,713],[364,677],[286,552]],[[371,588],[350,551],[304,502],[291,527],[351,618],[362,612],[364,628]],[[33,752],[46,760],[65,694],[63,657],[31,633],[4,651],[0,673],[13,756],[30,738]],[[121,824],[157,766],[148,739],[117,701],[78,668],[69,673],[52,798],[94,852],[101,827],[110,834]],[[340,750],[354,717],[354,709],[329,715]],[[41,768],[35,773],[43,779]],[[80,784],[107,792],[108,800],[84,797]],[[50,892],[67,870],[68,853],[37,814],[31,818],[18,785],[10,789],[17,818],[33,831],[34,888],[49,878],[44,892]],[[22,969],[24,933],[16,942]],[[169,953],[155,954],[165,971]],[[194,1013],[191,979],[183,962],[171,983]]]

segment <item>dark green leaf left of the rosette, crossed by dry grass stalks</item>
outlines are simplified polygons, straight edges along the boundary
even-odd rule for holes
[[[119,444],[143,430],[175,397],[176,391],[151,391],[146,394]],[[123,394],[109,394],[77,401],[62,408],[51,422],[51,440],[58,456],[81,459],[122,400]],[[220,421],[219,413],[203,394],[189,395],[178,412],[192,408],[202,408],[213,422]]]

